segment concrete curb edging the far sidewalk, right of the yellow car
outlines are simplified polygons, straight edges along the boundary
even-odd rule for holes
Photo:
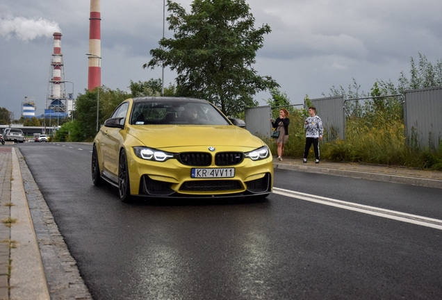
[[[344,176],[352,178],[361,178],[373,181],[385,181],[390,183],[404,183],[409,185],[419,185],[427,188],[442,189],[442,181],[430,178],[417,178],[411,176],[398,176],[392,174],[379,174],[372,172],[352,171],[345,169],[334,169],[327,167],[312,167],[308,165],[290,165],[286,163],[273,163],[275,169],[288,169],[298,172],[308,172],[316,174],[327,174],[334,176]]]

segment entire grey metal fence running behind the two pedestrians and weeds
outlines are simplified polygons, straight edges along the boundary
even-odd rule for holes
[[[312,105],[316,107],[316,114],[322,119],[322,126],[327,131],[326,141],[330,142],[336,138],[345,140],[347,101],[370,101],[376,98],[403,99],[401,102],[404,114],[404,138],[408,144],[420,149],[423,147],[438,149],[442,142],[442,87],[407,90],[404,94],[346,99],[345,101],[343,96],[311,99]],[[270,138],[271,110],[270,106],[247,108],[245,110],[247,130],[260,138]]]

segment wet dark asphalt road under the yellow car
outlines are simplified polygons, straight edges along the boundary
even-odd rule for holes
[[[95,299],[442,297],[440,229],[312,196],[442,219],[439,189],[278,169],[265,201],[122,203],[91,146],[19,149]]]

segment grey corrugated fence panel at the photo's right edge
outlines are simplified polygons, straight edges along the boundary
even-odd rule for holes
[[[405,135],[409,145],[437,149],[442,140],[442,87],[404,92]]]

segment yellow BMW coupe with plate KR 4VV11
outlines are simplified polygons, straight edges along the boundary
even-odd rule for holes
[[[92,182],[120,199],[267,197],[268,146],[208,101],[127,99],[104,122],[92,149]]]

